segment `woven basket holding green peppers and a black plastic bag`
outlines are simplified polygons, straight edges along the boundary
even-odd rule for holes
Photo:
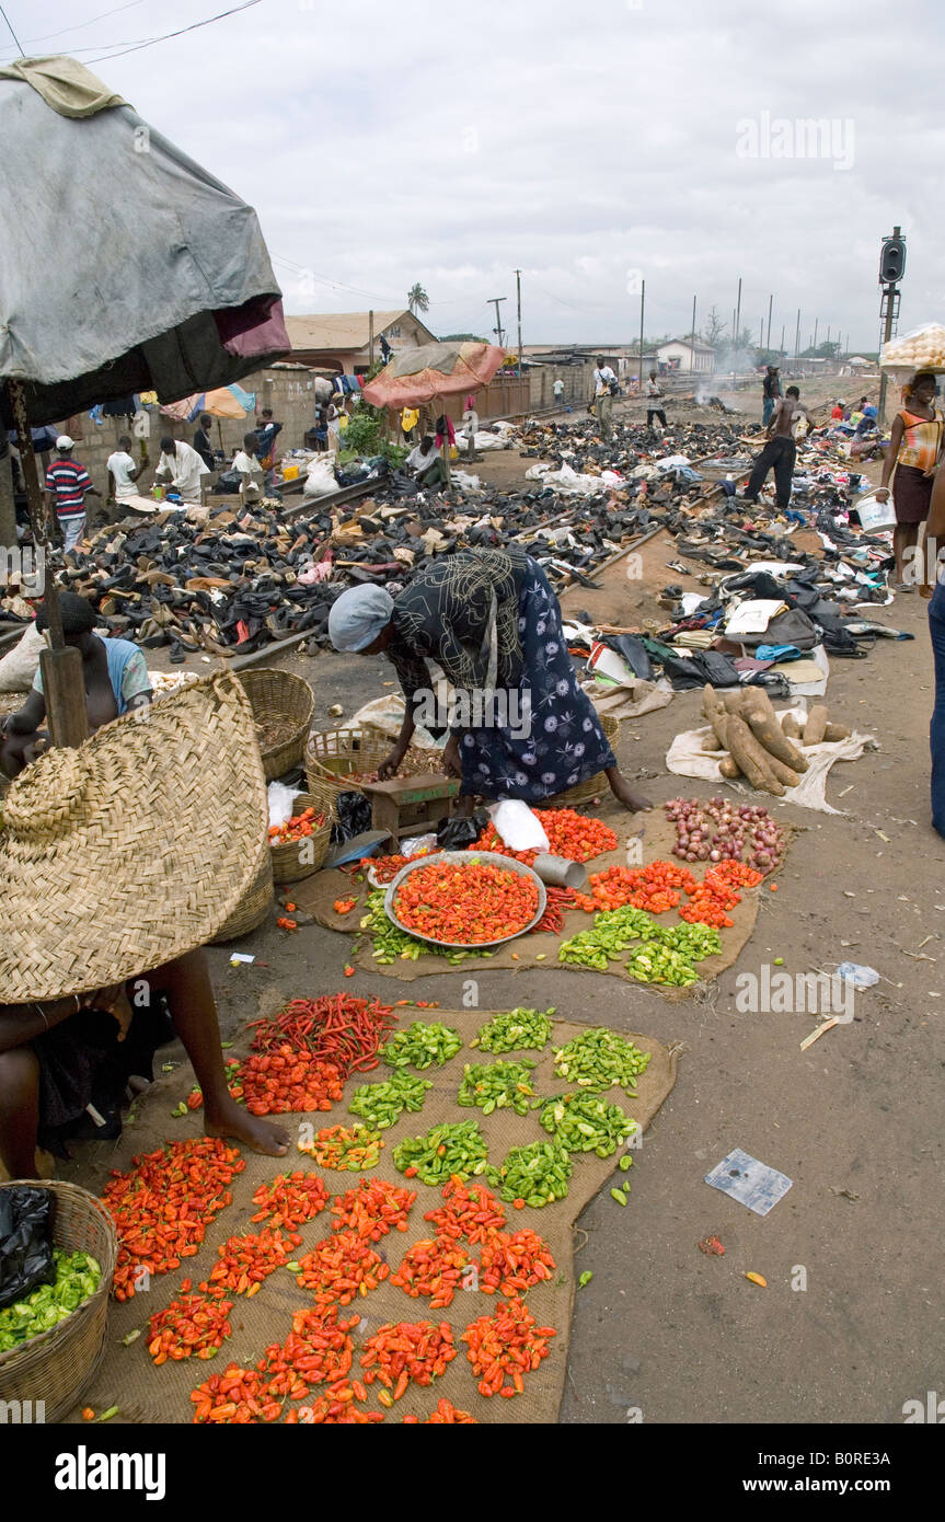
[[[102,1361],[119,1239],[102,1201],[78,1184],[17,1178],[0,1189],[38,1183],[56,1196],[53,1247],[90,1253],[102,1269],[99,1288],[65,1321],[0,1353],[0,1400],[32,1400],[33,1420],[35,1402],[41,1400],[50,1423],[72,1411]]]

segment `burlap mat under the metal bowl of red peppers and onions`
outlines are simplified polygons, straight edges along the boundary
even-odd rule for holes
[[[625,814],[622,816],[625,819]],[[607,819],[610,825],[619,826],[619,816],[610,816]],[[662,808],[653,810],[650,814],[644,814],[641,820],[642,829],[642,864],[648,861],[667,861],[674,860],[671,855],[673,846],[676,843],[676,825],[667,819]],[[785,829],[790,842],[790,828]],[[785,858],[782,858],[784,861]],[[607,851],[604,855],[595,857],[593,861],[587,864],[590,872],[603,872],[609,866],[625,866],[627,863],[627,848],[618,848],[616,851]],[[700,863],[702,864],[702,863]],[[738,960],[746,942],[750,939],[755,930],[755,921],[758,919],[758,898],[759,893],[765,890],[761,884],[756,889],[743,889],[741,903],[735,906],[729,918],[732,919],[732,928],[721,931],[721,951],[717,956],[706,957],[705,962],[698,963],[698,974],[705,983],[711,983],[712,979],[724,973],[726,968],[732,966]],[[359,909],[367,900],[370,887],[352,887],[352,878],[339,871],[317,872],[315,877],[304,878],[301,883],[291,884],[292,903],[303,909],[306,913],[324,925],[327,930],[344,930],[348,935],[352,927],[358,925],[361,919]],[[358,896],[359,909],[352,910],[348,915],[338,915],[332,907],[338,898]],[[352,953],[352,962],[355,966],[368,968],[374,973],[380,973],[387,977],[396,977],[403,983],[412,983],[417,977],[426,977],[432,973],[460,973],[463,977],[470,977],[476,968],[493,970],[493,968],[527,968],[527,966],[542,966],[545,971],[552,968],[566,968],[575,971],[574,963],[558,962],[558,947],[562,941],[569,936],[577,935],[580,930],[589,930],[593,924],[593,916],[584,913],[583,909],[572,909],[565,915],[565,928],[560,935],[528,935],[519,936],[516,941],[508,941],[502,947],[496,947],[492,957],[479,959],[469,957],[464,962],[447,962],[446,957],[437,956],[435,953],[422,953],[415,962],[390,962],[382,965],[373,957],[373,942],[365,938],[359,948]],[[676,912],[662,915],[659,924],[673,925],[680,924]],[[304,931],[300,931],[300,935]],[[603,976],[619,977],[624,983],[633,983],[641,988],[641,983],[630,977],[625,971],[624,962],[630,956],[630,948],[622,954],[621,962],[610,962],[607,973]],[[595,973],[593,968],[581,968],[578,971]],[[595,974],[597,976],[597,974]],[[697,989],[698,983],[691,983],[686,988],[660,988],[656,983],[644,985],[647,988],[654,988],[663,998],[691,998]]]

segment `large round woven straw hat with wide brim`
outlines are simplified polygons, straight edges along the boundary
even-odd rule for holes
[[[204,945],[268,851],[253,711],[228,673],[47,750],[0,829],[0,1003],[107,988]]]

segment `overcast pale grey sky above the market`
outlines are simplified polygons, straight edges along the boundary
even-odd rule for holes
[[[908,239],[899,332],[945,320],[945,6],[878,0],[3,0],[259,212],[288,312],[399,307],[514,341],[685,333],[738,275],[756,335],[878,342],[880,239]],[[2,23],[0,23],[2,27]],[[64,30],[67,29],[67,30]],[[0,58],[17,55],[9,35]],[[816,157],[797,122],[826,119]],[[767,151],[767,152],[765,152]]]

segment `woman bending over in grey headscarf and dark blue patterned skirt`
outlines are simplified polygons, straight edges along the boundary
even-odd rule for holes
[[[562,610],[540,565],[520,545],[464,549],[425,565],[394,600],[380,586],[342,592],[329,615],[336,650],[383,651],[406,700],[396,772],[435,691],[428,661],[453,686],[444,766],[461,796],[540,804],[606,772],[632,811],[650,808],[616,766],[590,699],[577,685]],[[463,723],[466,715],[466,723]],[[472,717],[472,721],[470,721]]]

